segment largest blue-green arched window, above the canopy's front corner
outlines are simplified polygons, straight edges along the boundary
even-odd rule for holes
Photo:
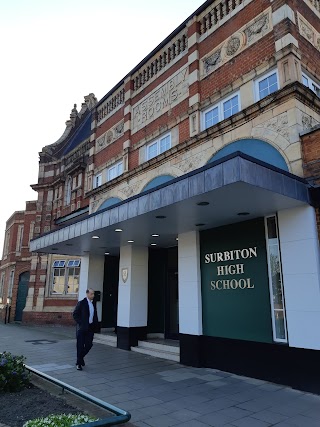
[[[241,151],[248,156],[254,157],[263,162],[269,163],[280,169],[288,171],[288,166],[279,151],[272,145],[260,139],[239,139],[231,144],[221,148],[214,156],[211,157],[208,163],[214,162],[227,156],[228,154]]]

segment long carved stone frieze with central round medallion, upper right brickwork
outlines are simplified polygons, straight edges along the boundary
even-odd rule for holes
[[[271,9],[269,8],[201,59],[201,78],[207,77],[271,30],[272,19]]]

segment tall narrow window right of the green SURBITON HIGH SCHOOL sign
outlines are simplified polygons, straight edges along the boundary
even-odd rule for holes
[[[274,215],[267,217],[265,221],[273,339],[278,342],[287,342],[286,312],[284,305],[277,218]]]

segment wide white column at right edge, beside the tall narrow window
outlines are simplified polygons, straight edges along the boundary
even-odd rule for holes
[[[311,206],[278,212],[290,347],[320,349],[319,239]]]

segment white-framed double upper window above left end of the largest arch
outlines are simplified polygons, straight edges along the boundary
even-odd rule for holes
[[[233,94],[227,99],[215,104],[203,114],[203,129],[207,129],[240,111],[240,95]]]

